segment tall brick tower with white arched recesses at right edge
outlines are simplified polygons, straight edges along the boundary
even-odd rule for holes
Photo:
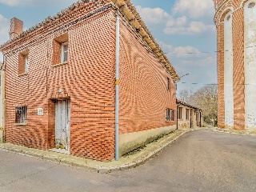
[[[218,34],[218,126],[256,129],[256,1],[214,0]]]

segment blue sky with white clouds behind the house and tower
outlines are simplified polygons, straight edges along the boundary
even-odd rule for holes
[[[27,30],[74,2],[77,0],[0,0],[0,45],[9,39],[10,18],[21,19],[24,30]],[[217,83],[217,42],[212,0],[131,2],[182,77],[177,83],[178,92],[184,89],[195,91],[206,84]]]

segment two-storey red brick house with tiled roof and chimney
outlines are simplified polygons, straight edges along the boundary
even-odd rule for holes
[[[110,161],[176,129],[174,67],[130,0],[78,1],[1,46],[6,142]]]

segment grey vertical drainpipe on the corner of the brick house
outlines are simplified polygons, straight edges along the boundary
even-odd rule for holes
[[[115,160],[119,159],[119,15],[117,13],[115,42]]]

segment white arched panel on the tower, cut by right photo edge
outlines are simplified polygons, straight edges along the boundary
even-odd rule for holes
[[[256,6],[244,6],[246,129],[256,129]]]

